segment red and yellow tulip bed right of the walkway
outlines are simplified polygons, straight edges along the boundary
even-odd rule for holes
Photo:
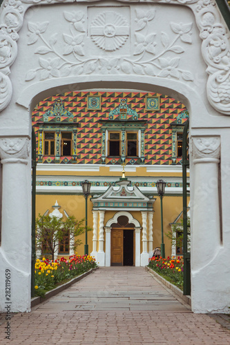
[[[162,257],[151,257],[148,267],[155,270],[155,272],[168,280],[168,282],[178,286],[181,290],[183,289],[183,257],[167,257],[166,259]]]

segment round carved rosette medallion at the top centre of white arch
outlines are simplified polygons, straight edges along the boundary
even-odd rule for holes
[[[128,21],[121,14],[103,12],[92,22],[90,37],[97,47],[107,52],[117,50],[129,36]]]

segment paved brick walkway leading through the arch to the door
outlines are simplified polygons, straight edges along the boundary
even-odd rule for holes
[[[228,345],[230,331],[191,309],[144,268],[99,268],[11,320],[0,344]]]

